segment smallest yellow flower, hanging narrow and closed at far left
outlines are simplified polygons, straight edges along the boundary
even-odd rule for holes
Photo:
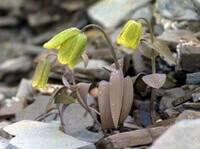
[[[47,84],[50,70],[51,70],[51,63],[46,59],[42,59],[36,67],[32,81],[32,86],[38,88],[44,88]]]

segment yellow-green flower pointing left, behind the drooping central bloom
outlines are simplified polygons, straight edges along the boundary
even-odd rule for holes
[[[77,28],[69,28],[66,29],[56,36],[54,36],[51,40],[43,45],[45,49],[57,49],[59,50],[61,45],[69,38],[74,37],[80,33],[80,30]]]

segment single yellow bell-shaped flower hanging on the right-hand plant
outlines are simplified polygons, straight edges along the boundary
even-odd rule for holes
[[[116,41],[125,48],[135,50],[139,45],[141,33],[142,24],[134,20],[130,20],[125,24]]]

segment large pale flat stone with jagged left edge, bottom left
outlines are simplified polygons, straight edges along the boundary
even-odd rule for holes
[[[59,131],[57,123],[20,121],[4,127],[4,131],[14,135],[9,144],[20,149],[95,149],[94,144],[78,140]]]

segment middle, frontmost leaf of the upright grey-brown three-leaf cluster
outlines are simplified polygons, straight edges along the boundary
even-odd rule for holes
[[[115,128],[118,126],[122,108],[124,78],[121,69],[113,70],[110,75],[110,109]]]

